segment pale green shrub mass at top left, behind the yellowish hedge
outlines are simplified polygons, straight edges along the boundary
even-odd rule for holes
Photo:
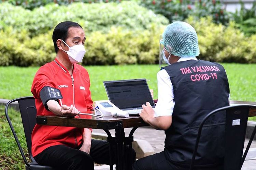
[[[111,27],[128,30],[148,29],[151,23],[168,24],[168,20],[156,15],[136,2],[122,3],[72,3],[68,6],[48,4],[33,11],[9,3],[0,3],[0,28],[12,26],[15,30],[26,29],[30,37],[47,33],[59,22],[72,20],[80,23],[86,32],[108,32]]]

